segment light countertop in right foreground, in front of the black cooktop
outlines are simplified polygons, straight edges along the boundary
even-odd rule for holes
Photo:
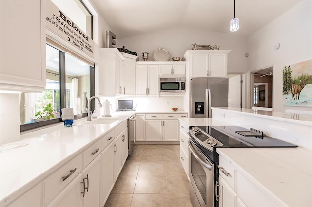
[[[217,153],[276,206],[312,206],[312,151],[297,148],[217,148]]]

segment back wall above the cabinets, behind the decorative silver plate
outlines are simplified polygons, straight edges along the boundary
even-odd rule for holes
[[[143,61],[142,52],[148,52],[150,54],[147,61],[154,61],[153,52],[158,48],[168,50],[170,58],[182,57],[187,50],[192,50],[192,44],[195,43],[217,45],[220,50],[231,50],[228,55],[228,73],[247,72],[247,41],[246,38],[236,35],[179,26],[118,39],[117,47],[125,46],[126,49],[137,52],[140,61]]]

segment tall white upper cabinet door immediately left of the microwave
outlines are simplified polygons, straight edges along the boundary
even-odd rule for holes
[[[159,66],[150,65],[148,69],[148,96],[159,95]]]

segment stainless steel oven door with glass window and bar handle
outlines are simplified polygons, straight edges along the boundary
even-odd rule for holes
[[[190,198],[193,207],[214,206],[214,164],[189,142]]]

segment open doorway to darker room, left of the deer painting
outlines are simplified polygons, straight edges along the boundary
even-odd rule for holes
[[[252,106],[273,107],[273,67],[252,73]]]

